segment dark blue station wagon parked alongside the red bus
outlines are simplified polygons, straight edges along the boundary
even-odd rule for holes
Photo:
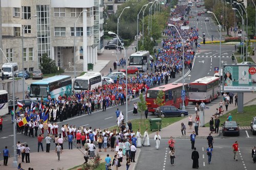
[[[155,114],[159,115],[159,110],[160,110],[160,115],[161,117],[173,117],[173,116],[187,116],[188,112],[186,110],[180,110],[177,109],[175,106],[161,106],[156,108]]]

